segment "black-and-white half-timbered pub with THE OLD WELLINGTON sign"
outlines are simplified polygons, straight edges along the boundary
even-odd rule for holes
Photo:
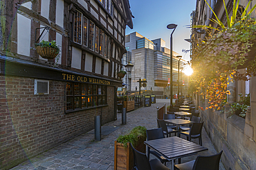
[[[116,120],[129,0],[1,0],[0,169]],[[55,41],[59,59],[35,43]]]

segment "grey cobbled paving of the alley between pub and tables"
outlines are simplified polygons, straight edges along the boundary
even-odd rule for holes
[[[102,136],[101,141],[95,141],[94,134],[82,134],[62,145],[39,154],[34,158],[30,158],[30,160],[19,164],[17,167],[12,168],[12,170],[114,169],[113,144],[116,138],[121,134],[127,134],[127,132],[138,125],[145,126],[147,129],[156,128],[156,107],[162,107],[164,103],[169,105],[170,100],[156,99],[156,103],[152,104],[151,107],[141,107],[134,111],[129,111],[127,113],[127,125],[121,125],[121,114],[118,114],[118,120],[107,123],[104,126],[113,125],[119,128],[108,136]],[[198,144],[198,140],[192,141]],[[207,147],[209,150],[203,151],[199,153],[199,155],[211,155],[217,153],[204,130],[203,146]],[[182,158],[181,162],[194,160],[196,156],[197,155]],[[171,167],[170,162],[167,162],[167,167]],[[220,164],[220,169],[224,169],[222,164]]]

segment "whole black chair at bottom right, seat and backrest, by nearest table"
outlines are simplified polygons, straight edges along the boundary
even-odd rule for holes
[[[212,156],[197,156],[196,160],[185,162],[183,164],[175,164],[174,170],[219,170],[219,160],[221,152]]]

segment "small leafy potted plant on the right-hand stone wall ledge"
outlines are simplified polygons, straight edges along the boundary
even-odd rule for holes
[[[244,118],[246,116],[246,111],[250,106],[250,94],[247,94],[246,96],[239,94],[239,96],[240,100],[237,101],[237,103],[231,104],[230,112]]]

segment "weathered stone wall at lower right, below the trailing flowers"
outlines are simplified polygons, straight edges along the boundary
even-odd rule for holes
[[[255,81],[254,79],[251,83]],[[255,87],[251,87],[252,95]],[[254,96],[251,96],[252,109],[248,109],[246,118],[212,111],[211,109],[200,112],[205,131],[212,140],[212,144],[217,151],[223,150],[221,161],[226,169],[255,169],[256,167],[255,126],[253,124],[253,117],[255,117],[253,116],[255,114],[254,100]],[[201,100],[198,95],[194,98],[194,103],[196,106],[206,107],[206,100]]]

